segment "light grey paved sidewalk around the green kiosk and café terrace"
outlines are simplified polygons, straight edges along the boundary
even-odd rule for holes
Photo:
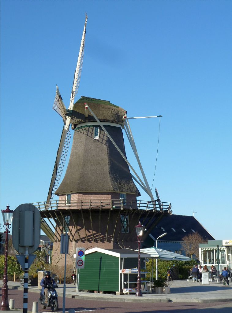
[[[0,281],[1,286],[3,285]],[[63,284],[58,284],[56,289],[59,296],[63,296]],[[232,301],[232,283],[224,286],[220,283],[210,283],[202,285],[200,282],[187,282],[187,280],[174,280],[169,283],[170,294],[143,294],[142,297],[130,295],[110,295],[88,292],[76,293],[76,286],[66,284],[66,297],[84,300],[120,301],[120,302],[201,302],[212,303],[221,301]],[[8,282],[9,289],[23,290],[19,282]],[[40,288],[30,287],[29,292],[40,293]]]

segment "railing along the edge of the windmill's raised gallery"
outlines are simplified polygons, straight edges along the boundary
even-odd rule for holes
[[[145,211],[166,211],[171,213],[171,203],[156,202],[156,201],[143,201],[143,200],[77,200],[75,202],[67,203],[66,201],[53,200],[50,201],[49,206],[46,202],[32,203],[40,211],[45,210],[59,210],[59,209],[134,209]]]

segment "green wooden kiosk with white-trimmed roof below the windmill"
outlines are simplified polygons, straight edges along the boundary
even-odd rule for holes
[[[76,255],[74,255],[76,257]],[[150,254],[141,253],[141,269]],[[79,290],[122,292],[120,269],[136,268],[138,251],[92,248],[85,252],[85,267],[80,269]]]

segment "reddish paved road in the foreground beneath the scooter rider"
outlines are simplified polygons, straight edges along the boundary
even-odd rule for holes
[[[15,313],[22,312],[23,291],[16,289],[8,290],[8,299],[15,300]],[[33,301],[38,301],[39,294],[35,292],[28,293],[28,310],[32,310]],[[58,297],[59,312],[62,312],[63,298]],[[66,298],[66,311],[75,309],[76,312],[96,312],[96,313],[135,313],[135,312],[156,312],[156,313],[231,313],[232,301],[217,303],[198,303],[198,302],[168,302],[168,303],[150,303],[150,302],[113,302],[102,300],[85,300]],[[18,310],[17,310],[18,309]],[[5,311],[6,312],[6,311]],[[39,312],[49,313],[49,308],[43,310],[39,305]],[[4,311],[1,311],[4,313]]]

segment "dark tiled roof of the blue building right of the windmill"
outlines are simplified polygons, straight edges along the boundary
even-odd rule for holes
[[[148,220],[148,219],[147,219]],[[147,223],[147,220],[145,223]],[[143,223],[145,225],[145,223]],[[162,228],[161,228],[162,227]],[[173,230],[173,229],[175,230]],[[184,230],[185,232],[184,232]],[[182,238],[190,233],[199,233],[205,240],[215,240],[210,233],[198,222],[194,216],[172,214],[164,216],[150,234],[157,239],[163,233],[161,241],[182,241]]]

